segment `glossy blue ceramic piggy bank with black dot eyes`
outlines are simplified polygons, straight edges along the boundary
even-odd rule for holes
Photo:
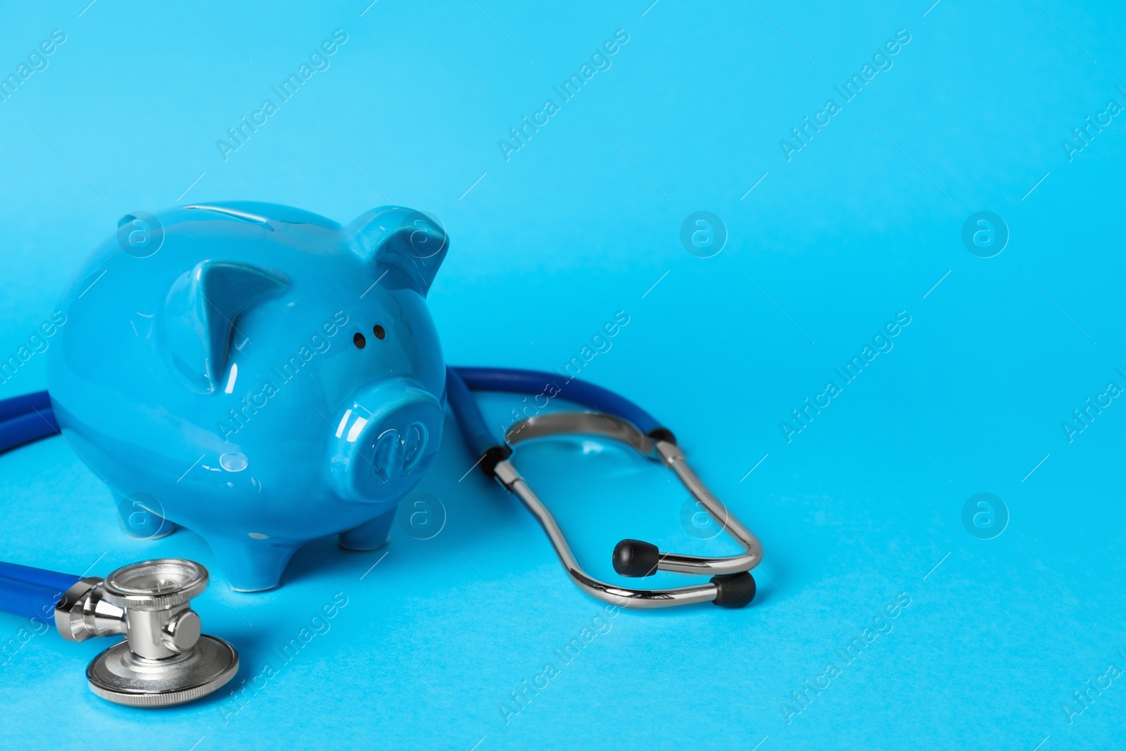
[[[184,525],[234,589],[294,551],[387,542],[443,429],[426,295],[445,231],[383,207],[347,226],[254,203],[125,216],[64,295],[55,415],[126,530]]]

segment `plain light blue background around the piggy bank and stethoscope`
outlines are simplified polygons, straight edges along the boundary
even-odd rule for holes
[[[430,294],[448,361],[562,367],[626,311],[583,377],[674,430],[766,557],[752,607],[620,613],[506,723],[509,691],[600,606],[515,498],[477,472],[458,481],[473,457],[449,422],[420,488],[447,515],[432,539],[396,526],[383,560],[314,543],[269,593],[230,592],[212,569],[197,607],[248,682],[333,593],[348,598],[236,714],[225,691],[162,712],[108,705],[83,678],[107,644],[52,633],[0,665],[0,746],[1121,744],[1126,678],[1071,724],[1062,704],[1109,663],[1126,669],[1126,406],[1071,444],[1061,428],[1108,381],[1126,385],[1126,122],[1073,161],[1061,145],[1109,99],[1126,105],[1120,5],[86,2],[0,11],[3,73],[52,29],[68,35],[0,104],[5,358],[127,212],[426,209],[453,241]],[[224,162],[215,141],[337,28],[349,38],[331,68]],[[619,28],[629,42],[610,70],[506,162],[498,138]],[[787,162],[778,141],[901,28],[894,66]],[[960,241],[983,209],[1011,233],[991,259]],[[695,211],[726,223],[714,258],[680,245]],[[779,422],[899,311],[911,323],[894,349],[787,444]],[[45,361],[0,396],[46,387]],[[516,403],[483,401],[494,421]],[[598,448],[520,459],[593,573],[620,581],[622,537],[735,549],[681,528],[685,493],[662,472]],[[995,539],[962,525],[978,492],[1008,506]],[[0,495],[3,560],[212,564],[189,531],[125,537],[60,439],[0,457]],[[787,723],[780,703],[901,592],[894,629]],[[0,637],[20,625],[0,616]]]

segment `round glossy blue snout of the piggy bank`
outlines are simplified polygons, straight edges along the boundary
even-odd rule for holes
[[[409,379],[390,379],[354,394],[338,418],[330,472],[354,501],[406,492],[426,472],[441,440],[441,403]]]

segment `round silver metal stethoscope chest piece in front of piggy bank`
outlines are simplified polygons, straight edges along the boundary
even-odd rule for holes
[[[64,638],[125,636],[86,670],[90,689],[133,707],[167,707],[202,698],[239,671],[239,653],[200,633],[189,600],[207,588],[207,570],[184,558],[122,566],[80,579],[55,606]]]

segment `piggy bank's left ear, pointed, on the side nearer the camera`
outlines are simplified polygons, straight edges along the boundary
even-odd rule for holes
[[[164,301],[164,343],[172,364],[204,392],[226,367],[232,334],[247,309],[288,285],[282,274],[234,261],[200,261],[172,284]]]

